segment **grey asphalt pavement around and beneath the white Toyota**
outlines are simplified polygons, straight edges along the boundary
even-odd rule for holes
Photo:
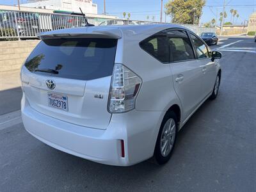
[[[256,191],[256,42],[223,37],[211,49],[223,53],[220,93],[179,132],[170,162],[97,164],[45,145],[21,123],[0,124],[0,191]],[[19,88],[0,91],[0,115],[19,110],[20,97]]]

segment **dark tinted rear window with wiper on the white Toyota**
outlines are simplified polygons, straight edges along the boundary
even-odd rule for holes
[[[91,80],[111,76],[117,40],[61,38],[44,40],[31,52],[25,67],[30,72],[68,79]],[[56,70],[56,73],[38,70]]]

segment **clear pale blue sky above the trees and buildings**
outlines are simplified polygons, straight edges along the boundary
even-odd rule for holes
[[[26,3],[27,0],[20,0],[20,3]],[[56,0],[58,1],[58,0]],[[168,0],[163,0],[166,4]],[[93,0],[93,3],[98,4],[98,13],[104,12],[103,0]],[[203,9],[201,22],[209,22],[210,20],[220,19],[220,13],[223,11],[224,0],[206,0]],[[17,0],[0,0],[0,4],[17,4]],[[253,12],[256,12],[256,0],[226,0],[227,19],[230,21],[230,9],[237,10],[239,18],[235,19],[235,24],[242,24],[244,20],[248,20]],[[131,13],[133,20],[152,20],[154,16],[155,21],[160,20],[161,0],[106,0],[106,13],[108,15],[116,15],[122,18],[122,13]],[[218,17],[217,17],[218,16]],[[165,17],[163,14],[163,21]],[[170,16],[166,16],[166,21],[170,22]],[[218,22],[219,24],[220,22]]]

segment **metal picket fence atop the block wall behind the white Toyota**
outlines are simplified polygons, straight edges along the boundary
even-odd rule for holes
[[[143,20],[106,19],[100,17],[86,17],[90,24],[95,26],[107,25],[143,25],[161,24]],[[85,26],[81,15],[68,15],[59,13],[36,13],[0,10],[0,40],[20,40],[36,38],[36,34],[65,28],[79,28]],[[181,24],[195,33],[216,32],[215,28],[203,28],[193,25]]]

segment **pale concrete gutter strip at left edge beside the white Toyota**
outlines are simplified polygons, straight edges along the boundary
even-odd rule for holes
[[[12,127],[13,125],[20,124],[22,122],[19,111],[13,111],[0,116],[0,130]]]

